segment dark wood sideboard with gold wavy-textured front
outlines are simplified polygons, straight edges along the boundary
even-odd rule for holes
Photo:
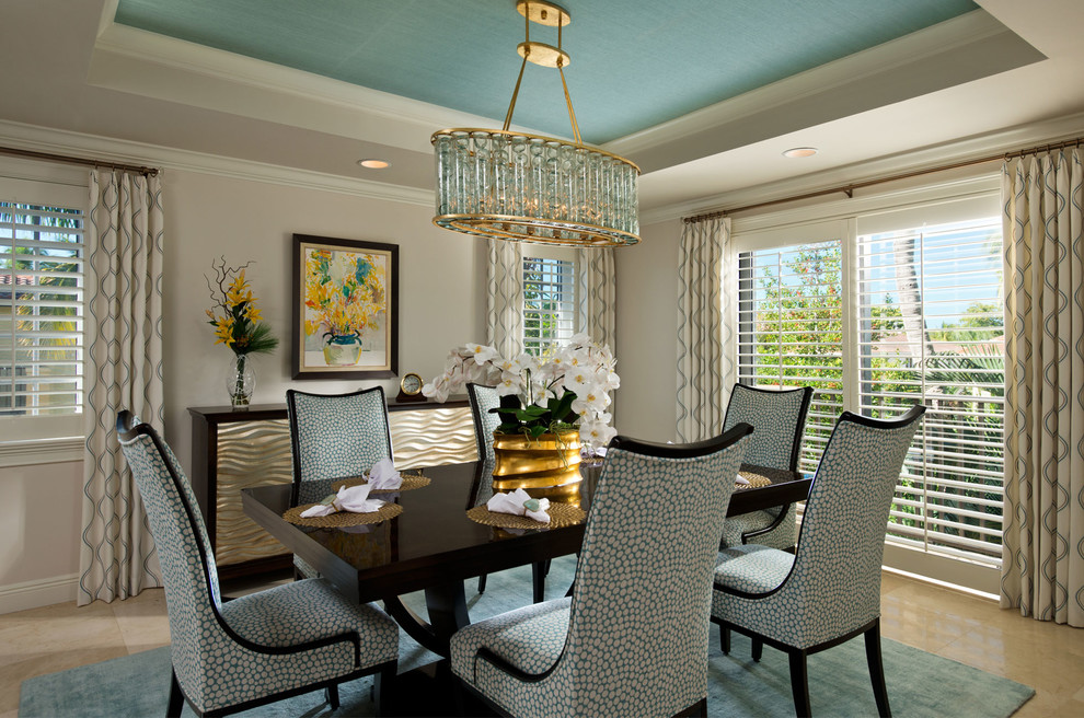
[[[395,466],[475,461],[474,424],[465,396],[436,402],[388,401]],[[249,519],[241,489],[292,480],[286,404],[189,407],[192,488],[207,522],[220,578],[287,568],[290,553]]]

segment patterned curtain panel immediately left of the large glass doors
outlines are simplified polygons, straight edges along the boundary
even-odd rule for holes
[[[678,439],[723,430],[736,372],[738,280],[730,219],[685,222],[678,258]]]

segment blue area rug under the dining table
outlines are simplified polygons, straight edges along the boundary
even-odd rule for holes
[[[546,580],[546,598],[564,595],[575,569],[574,559],[553,561]],[[468,582],[472,595],[474,582]],[[471,616],[482,618],[527,605],[531,597],[530,567],[493,574],[486,592],[470,599]],[[420,594],[407,603],[424,611]],[[424,615],[424,614],[423,614]],[[425,665],[437,656],[400,635],[400,672]],[[885,678],[892,713],[898,718],[942,717],[1004,718],[1030,698],[1035,691],[893,640],[884,639]],[[750,658],[748,639],[734,634],[731,651],[718,649],[712,627],[708,652],[710,716],[793,716],[791,676],[784,653],[764,648],[763,660]],[[369,699],[371,679],[339,688],[342,706],[332,711],[322,691],[255,708],[239,716],[373,716]],[[126,656],[102,663],[50,673],[23,682],[20,718],[142,718],[165,715],[170,687],[168,648]],[[809,658],[809,694],[815,716],[876,716],[873,687],[861,638]],[[185,715],[193,715],[185,706]]]

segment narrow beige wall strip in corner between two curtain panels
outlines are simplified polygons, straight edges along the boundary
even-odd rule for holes
[[[618,275],[618,431],[672,441],[678,412],[678,246],[681,223],[641,228],[643,241],[614,252]]]

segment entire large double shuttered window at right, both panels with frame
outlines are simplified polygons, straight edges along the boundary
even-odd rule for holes
[[[736,228],[738,381],[815,387],[806,472],[843,409],[888,418],[925,404],[897,485],[886,564],[995,592],[1002,239],[999,195],[975,182],[957,197],[929,189],[904,207],[866,200],[833,220],[807,209],[805,221],[794,220],[797,210]]]

